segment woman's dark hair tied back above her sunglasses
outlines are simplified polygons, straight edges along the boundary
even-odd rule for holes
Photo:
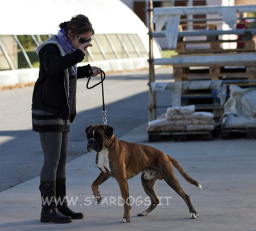
[[[73,34],[92,32],[94,35],[92,23],[82,14],[73,16],[68,22],[60,23],[59,27],[63,28],[66,33],[71,30]]]

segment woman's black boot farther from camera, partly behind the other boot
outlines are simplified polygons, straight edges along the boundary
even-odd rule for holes
[[[57,209],[65,216],[71,216],[72,219],[82,219],[84,215],[81,212],[73,212],[67,203],[66,197],[66,178],[56,179]]]

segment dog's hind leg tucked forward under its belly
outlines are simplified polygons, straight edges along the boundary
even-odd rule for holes
[[[146,194],[150,197],[151,205],[145,211],[137,213],[138,216],[147,216],[160,203],[155,193],[155,183],[157,180],[157,177],[147,180],[144,179],[144,173],[141,175],[142,186]]]

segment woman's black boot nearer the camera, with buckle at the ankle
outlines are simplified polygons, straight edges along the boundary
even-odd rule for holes
[[[70,216],[65,216],[57,211],[56,208],[56,181],[42,181],[40,182],[42,212],[41,222],[53,223],[70,223],[72,221]]]

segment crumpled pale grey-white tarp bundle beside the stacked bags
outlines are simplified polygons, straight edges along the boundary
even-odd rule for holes
[[[256,89],[230,85],[230,98],[224,104],[223,128],[256,128]]]

